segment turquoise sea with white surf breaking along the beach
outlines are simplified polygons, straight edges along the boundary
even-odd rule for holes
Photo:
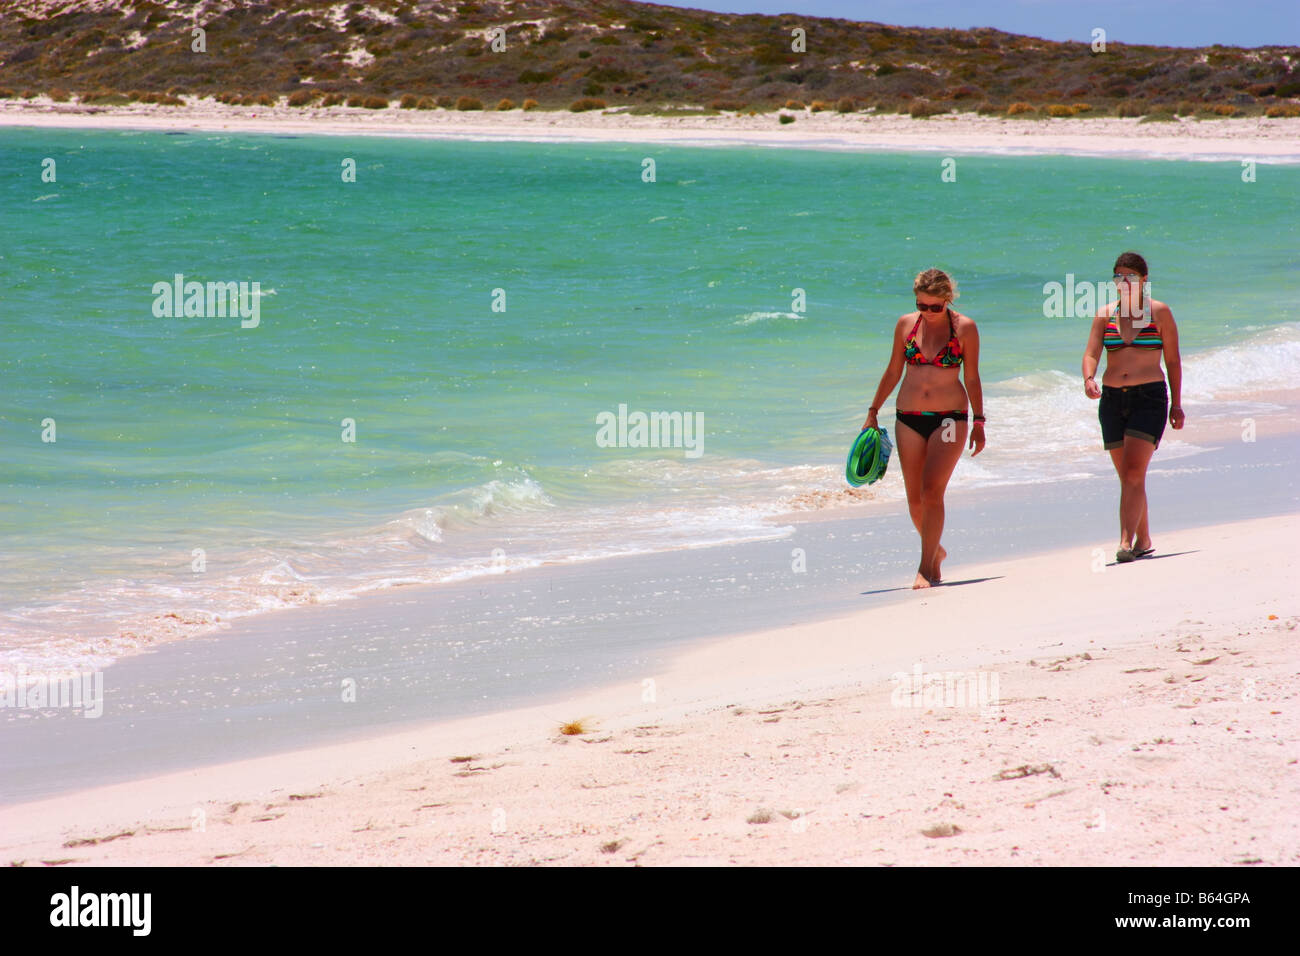
[[[1178,319],[1190,415],[1300,359],[1296,165],[962,156],[941,182],[920,153],[0,130],[0,172],[10,654],[779,535],[842,496],[930,265],[982,337],[991,447],[958,483],[1109,467],[1087,320],[1044,317],[1043,285],[1126,248]],[[260,323],[155,316],[177,273],[259,282]],[[701,415],[702,454],[601,446],[620,405]]]

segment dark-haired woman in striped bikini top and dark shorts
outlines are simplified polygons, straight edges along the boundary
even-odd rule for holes
[[[1184,423],[1183,367],[1178,356],[1178,325],[1164,302],[1150,298],[1147,260],[1136,252],[1115,259],[1119,300],[1102,306],[1092,320],[1083,352],[1083,390],[1100,398],[1101,442],[1119,475],[1119,550],[1115,561],[1144,558],[1154,548],[1147,522],[1147,466],[1160,447],[1165,418],[1174,428]],[[1106,350],[1101,388],[1093,375]],[[1169,386],[1160,368],[1164,355]],[[1170,397],[1173,403],[1166,405]]]

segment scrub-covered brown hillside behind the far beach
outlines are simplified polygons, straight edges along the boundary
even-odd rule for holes
[[[629,0],[92,0],[0,18],[0,98],[58,103],[1275,117],[1300,116],[1297,62],[1296,47],[1098,51]]]

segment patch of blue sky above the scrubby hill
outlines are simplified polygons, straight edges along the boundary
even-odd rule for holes
[[[1164,47],[1300,46],[1300,0],[696,0],[720,13],[803,13],[896,26],[992,26],[1049,40],[1108,40]]]

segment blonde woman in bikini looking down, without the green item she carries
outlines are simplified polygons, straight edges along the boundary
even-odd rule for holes
[[[948,557],[940,544],[944,492],[966,446],[967,395],[975,408],[970,447],[978,455],[984,449],[984,393],[979,382],[979,332],[970,316],[950,307],[957,298],[952,276],[926,269],[911,287],[916,311],[900,316],[894,325],[889,365],[880,376],[863,428],[879,428],[880,406],[902,378],[894,444],[907,510],[920,535],[920,564],[911,587],[928,588],[942,580],[940,564]]]

